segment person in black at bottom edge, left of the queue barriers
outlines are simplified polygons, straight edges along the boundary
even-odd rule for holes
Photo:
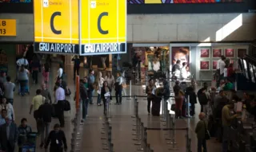
[[[55,124],[54,131],[50,131],[50,134],[46,141],[45,149],[48,148],[49,144],[50,152],[63,152],[63,146],[64,150],[67,150],[66,136],[64,131],[60,129],[59,124]]]

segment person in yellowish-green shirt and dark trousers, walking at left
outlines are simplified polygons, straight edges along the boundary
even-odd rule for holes
[[[44,103],[45,101],[45,97],[43,97],[41,95],[41,90],[38,89],[36,91],[36,95],[34,96],[34,98],[32,99],[32,102],[31,102],[31,105],[30,105],[30,115],[32,113],[32,110],[34,109],[34,119],[37,123],[37,130],[38,130],[38,134],[40,134],[40,125],[42,122],[40,122],[40,115],[39,115],[39,112],[38,112],[38,108],[42,105],[42,103]]]

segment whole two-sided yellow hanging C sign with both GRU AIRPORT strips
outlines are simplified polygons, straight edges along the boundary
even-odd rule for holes
[[[126,53],[126,0],[34,1],[34,48],[82,56]]]

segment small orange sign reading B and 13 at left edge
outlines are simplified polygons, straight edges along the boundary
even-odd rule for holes
[[[15,19],[0,19],[0,36],[16,36]]]

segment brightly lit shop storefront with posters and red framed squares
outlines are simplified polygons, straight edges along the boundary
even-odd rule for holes
[[[238,68],[238,58],[248,53],[246,43],[190,43],[190,44],[133,44],[130,60],[139,57],[142,80],[146,71],[170,72],[177,60],[186,62],[190,78],[211,81],[217,68],[217,60],[223,55],[234,68]]]

